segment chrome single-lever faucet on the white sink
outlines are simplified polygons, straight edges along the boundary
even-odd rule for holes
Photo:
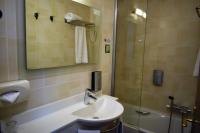
[[[91,99],[97,100],[97,97],[95,96],[95,92],[92,91],[91,89],[86,89],[85,90],[85,97],[84,97],[84,103],[86,105],[90,104]]]

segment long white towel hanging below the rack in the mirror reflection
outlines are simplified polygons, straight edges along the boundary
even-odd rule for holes
[[[75,54],[76,64],[88,63],[86,28],[82,26],[75,27]]]

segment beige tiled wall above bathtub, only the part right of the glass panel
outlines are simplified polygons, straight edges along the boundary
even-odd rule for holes
[[[142,106],[166,111],[168,96],[193,107],[197,78],[193,69],[200,48],[198,0],[149,0]],[[154,69],[164,70],[162,87],[152,85]]]

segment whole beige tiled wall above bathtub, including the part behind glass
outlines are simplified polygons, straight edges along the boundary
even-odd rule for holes
[[[118,14],[121,30],[117,33],[117,96],[126,103],[162,112],[167,111],[169,95],[177,104],[192,107],[197,87],[197,78],[192,74],[200,47],[200,19],[195,11],[199,1],[148,0],[146,31],[139,28],[142,23],[135,27],[127,23],[131,10],[145,4],[145,0],[123,0],[120,4],[126,6],[119,7]],[[136,31],[132,38],[128,36],[130,28]],[[145,33],[143,43],[139,40]],[[162,87],[152,83],[154,69],[164,71]]]

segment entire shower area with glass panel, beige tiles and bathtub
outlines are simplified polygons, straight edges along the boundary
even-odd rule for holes
[[[198,0],[116,0],[112,88],[125,107],[126,126],[138,132],[167,133],[169,96],[179,106],[194,107],[199,4]],[[155,70],[164,73],[159,85],[153,84]],[[181,113],[173,112],[170,133],[189,133],[191,123],[183,122]]]

